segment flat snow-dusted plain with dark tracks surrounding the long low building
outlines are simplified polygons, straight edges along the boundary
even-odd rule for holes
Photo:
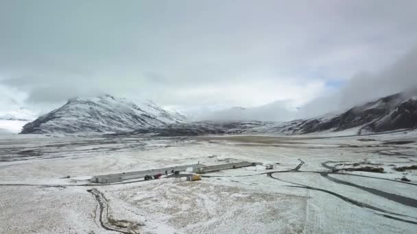
[[[416,136],[2,135],[0,233],[415,233],[417,170],[393,168],[417,165]],[[233,160],[275,168],[88,181]]]

